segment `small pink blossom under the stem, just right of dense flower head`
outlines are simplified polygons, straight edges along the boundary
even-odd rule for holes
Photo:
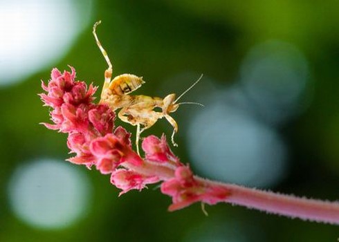
[[[111,175],[111,183],[122,189],[119,195],[129,192],[131,189],[139,191],[147,184],[157,183],[159,178],[156,176],[145,176],[127,169],[116,169]]]

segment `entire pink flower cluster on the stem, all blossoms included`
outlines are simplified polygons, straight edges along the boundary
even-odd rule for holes
[[[46,93],[40,97],[52,108],[53,122],[44,125],[68,133],[68,148],[76,154],[68,160],[111,174],[111,183],[122,189],[120,194],[163,182],[161,192],[172,196],[171,211],[198,201],[215,204],[228,198],[230,192],[225,187],[193,176],[190,168],[174,156],[165,136],[145,138],[145,158],[138,156],[131,147],[131,134],[114,127],[116,115],[107,105],[93,103],[96,88],[75,81],[74,68],[71,73],[54,68],[51,80],[47,85],[42,82],[42,88]]]

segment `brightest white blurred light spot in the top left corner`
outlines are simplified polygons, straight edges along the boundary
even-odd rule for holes
[[[61,59],[89,25],[92,0],[0,2],[0,86],[22,82]]]

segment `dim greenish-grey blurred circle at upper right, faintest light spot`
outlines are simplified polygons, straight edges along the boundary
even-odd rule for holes
[[[278,40],[254,46],[241,65],[242,88],[269,124],[281,124],[303,111],[309,75],[302,52]]]

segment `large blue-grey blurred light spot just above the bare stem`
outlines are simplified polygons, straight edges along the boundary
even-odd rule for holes
[[[270,127],[236,106],[214,100],[190,118],[187,145],[194,165],[210,178],[269,187],[282,179],[286,147]]]

